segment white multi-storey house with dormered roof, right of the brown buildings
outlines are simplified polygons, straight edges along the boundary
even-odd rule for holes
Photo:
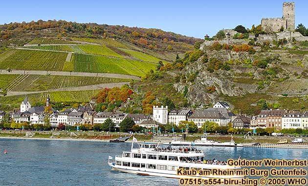
[[[301,116],[302,114],[299,111],[289,111],[285,113],[285,115],[282,116],[282,129],[303,128]]]

